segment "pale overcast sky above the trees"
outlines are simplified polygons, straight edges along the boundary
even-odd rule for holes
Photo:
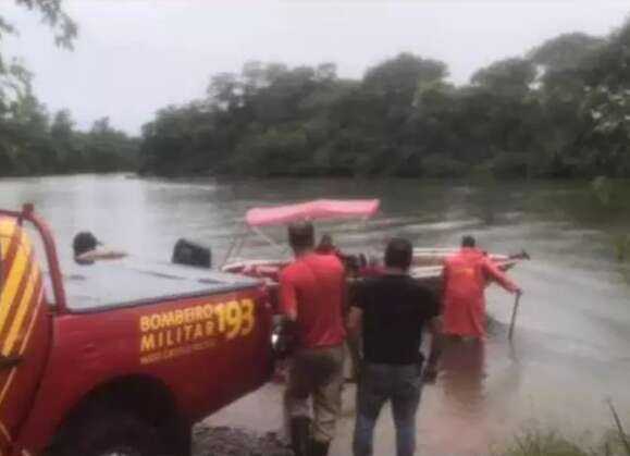
[[[65,0],[79,25],[75,50],[52,45],[39,17],[0,0],[21,30],[5,50],[35,73],[50,110],[78,126],[108,115],[138,133],[155,111],[203,95],[211,74],[248,60],[336,62],[360,77],[403,51],[443,60],[465,83],[480,66],[520,56],[560,33],[603,35],[628,0]]]

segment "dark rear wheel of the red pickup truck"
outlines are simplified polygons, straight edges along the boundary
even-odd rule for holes
[[[178,456],[155,427],[126,412],[109,412],[71,431],[50,456]]]

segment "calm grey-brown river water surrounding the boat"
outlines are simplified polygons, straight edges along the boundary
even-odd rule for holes
[[[612,426],[610,398],[630,427],[630,272],[615,239],[630,233],[630,211],[603,208],[578,183],[419,183],[361,180],[138,180],[79,175],[0,180],[0,207],[34,202],[54,232],[63,264],[79,230],[136,258],[166,261],[182,236],[212,247],[215,262],[247,208],[312,198],[381,198],[367,224],[326,227],[347,249],[381,248],[391,235],[419,247],[452,246],[464,233],[491,251],[532,256],[510,275],[524,289],[514,343],[506,326],[512,298],[489,292],[483,349],[447,356],[424,389],[418,436],[423,454],[482,454],[515,433],[554,428],[569,435]],[[281,236],[272,233],[272,236]],[[262,252],[262,244],[251,244]],[[280,389],[267,386],[210,419],[256,431],[280,428]],[[351,387],[333,453],[349,453]],[[378,454],[392,454],[390,414]]]

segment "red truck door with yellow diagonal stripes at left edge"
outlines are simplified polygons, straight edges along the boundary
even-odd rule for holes
[[[0,218],[0,456],[30,409],[50,343],[42,276],[28,234]]]

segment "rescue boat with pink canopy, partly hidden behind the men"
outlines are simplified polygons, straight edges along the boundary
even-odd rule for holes
[[[222,271],[244,274],[264,280],[268,285],[274,286],[279,281],[279,273],[292,261],[286,246],[281,246],[271,236],[263,232],[268,226],[283,226],[297,221],[347,220],[358,219],[368,221],[379,211],[379,199],[332,200],[318,199],[296,205],[276,206],[268,208],[252,208],[245,215],[245,230],[237,236],[227,250],[226,258],[221,267]],[[277,258],[244,259],[240,257],[247,239],[257,235],[277,249]],[[437,287],[441,283],[442,266],[444,260],[457,252],[459,248],[415,248],[410,274],[418,281]],[[516,255],[487,254],[502,270],[508,270],[520,260],[528,259],[523,250]],[[349,270],[350,280],[362,280],[378,274],[383,269],[382,255],[370,252],[341,254]]]

